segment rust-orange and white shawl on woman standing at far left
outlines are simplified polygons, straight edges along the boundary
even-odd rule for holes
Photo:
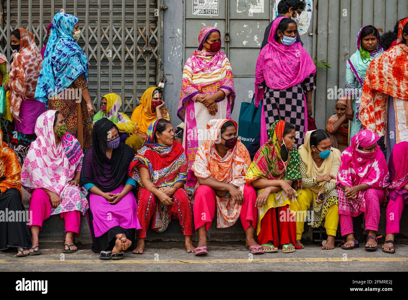
[[[10,110],[14,118],[20,120],[20,105],[24,99],[34,99],[42,57],[35,44],[33,33],[18,28],[20,31],[20,50],[14,52],[9,75]]]

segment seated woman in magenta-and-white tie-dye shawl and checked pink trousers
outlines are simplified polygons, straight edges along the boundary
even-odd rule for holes
[[[390,174],[384,154],[377,145],[379,136],[371,130],[362,130],[351,138],[351,146],[341,153],[337,176],[341,236],[346,236],[343,249],[358,247],[354,238],[353,217],[364,212],[368,238],[365,249],[375,251],[380,219],[380,205]]]

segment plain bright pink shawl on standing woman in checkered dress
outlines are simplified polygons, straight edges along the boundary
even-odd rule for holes
[[[268,44],[261,50],[255,69],[255,105],[259,106],[264,89],[258,85],[266,85],[275,90],[283,90],[295,86],[306,79],[310,74],[316,73],[316,66],[309,53],[301,43],[291,46],[281,45],[275,41],[277,26],[283,18],[276,18],[272,23]]]

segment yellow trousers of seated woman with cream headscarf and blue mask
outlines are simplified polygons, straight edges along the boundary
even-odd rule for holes
[[[299,210],[296,215],[296,239],[302,238],[304,229],[304,222],[307,216],[307,211],[312,205],[312,201],[317,198],[317,193],[308,188],[304,188],[302,192],[297,191],[297,203],[299,204]],[[316,213],[316,212],[315,212]],[[339,225],[339,205],[330,205],[330,208],[324,216],[324,228],[326,228],[326,234],[330,236],[336,236],[337,226]]]

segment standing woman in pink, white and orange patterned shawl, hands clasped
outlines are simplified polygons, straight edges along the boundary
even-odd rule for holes
[[[183,69],[177,115],[184,121],[183,147],[188,170],[194,163],[198,147],[208,139],[206,126],[211,119],[231,119],[235,101],[231,64],[221,51],[220,31],[204,27],[198,36],[199,46]],[[197,178],[188,172],[187,185]]]

